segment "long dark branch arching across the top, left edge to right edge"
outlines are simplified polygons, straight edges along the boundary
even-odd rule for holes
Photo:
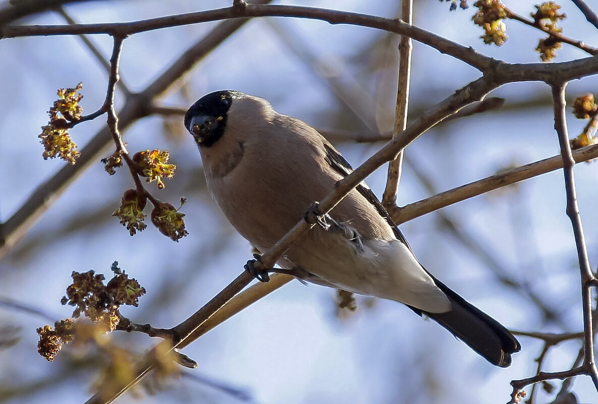
[[[410,26],[401,20],[386,19],[384,17],[369,16],[367,14],[348,13],[346,11],[327,10],[324,8],[289,5],[248,4],[247,7],[243,9],[229,7],[221,8],[219,10],[179,14],[176,16],[127,23],[80,24],[75,26],[7,26],[2,29],[2,38],[35,35],[80,35],[84,33],[107,33],[114,36],[127,36],[132,35],[133,33],[173,26],[222,19],[267,16],[316,19],[331,24],[358,25],[410,36],[416,41],[429,45],[441,53],[449,54],[481,71],[489,72],[490,69],[492,69],[497,73],[499,67],[502,67],[499,81],[503,81],[504,83],[512,81],[567,81],[590,74],[596,74],[596,72],[598,72],[598,56],[574,60],[572,62],[550,63],[549,65],[545,63],[508,65],[507,63],[483,56],[470,47],[464,47],[463,45],[448,41],[434,33],[415,26]],[[591,62],[588,62],[588,59],[591,60]],[[496,78],[498,79],[499,76]]]

